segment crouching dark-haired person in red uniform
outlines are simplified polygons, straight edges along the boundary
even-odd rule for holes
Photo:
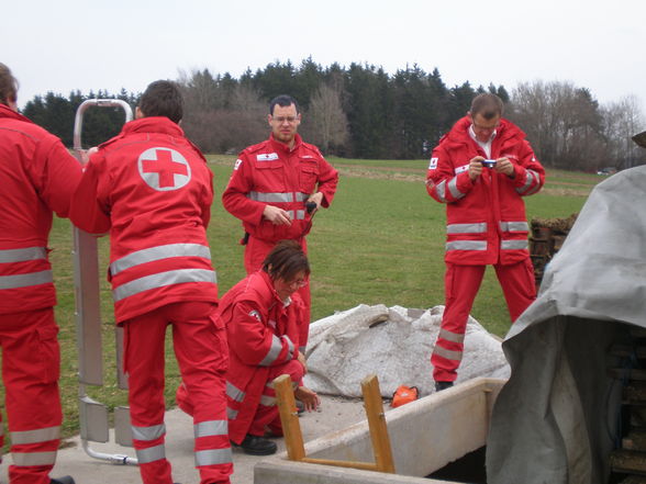
[[[266,430],[282,435],[274,379],[289,374],[307,410],[319,396],[302,386],[304,357],[299,352],[302,301],[294,294],[310,274],[308,258],[294,240],[280,241],[258,270],[234,285],[220,303],[218,318],[226,326],[231,362],[226,374],[229,436],[254,455],[276,452],[263,438]],[[192,415],[187,390],[177,392],[179,406]]]

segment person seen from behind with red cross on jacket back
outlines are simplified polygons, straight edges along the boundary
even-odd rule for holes
[[[164,340],[193,395],[196,466],[201,484],[229,483],[226,335],[214,315],[215,272],[207,240],[213,199],[207,160],[178,123],[182,99],[169,81],[148,86],[136,120],[92,155],[70,218],[90,233],[110,230],[116,323],[124,327],[124,370],[142,480],[171,484],[164,439]]]

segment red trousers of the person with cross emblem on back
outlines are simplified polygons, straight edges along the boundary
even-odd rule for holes
[[[124,323],[124,370],[133,443],[144,484],[172,484],[164,440],[164,342],[172,344],[181,379],[193,396],[196,466],[201,484],[229,483],[233,472],[226,419],[226,333],[215,326],[216,305],[204,302],[162,306]]]

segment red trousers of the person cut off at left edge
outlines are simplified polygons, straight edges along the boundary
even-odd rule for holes
[[[13,459],[11,484],[49,484],[63,421],[57,335],[52,307],[0,314],[2,381]]]

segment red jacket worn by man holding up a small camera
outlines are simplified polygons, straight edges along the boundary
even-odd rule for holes
[[[541,190],[545,170],[525,134],[514,124],[501,120],[490,157],[469,135],[470,125],[469,117],[463,117],[439,140],[426,176],[428,194],[447,204],[445,260],[459,264],[519,262],[530,257],[522,196]],[[509,158],[514,165],[514,178],[483,168],[471,182],[469,161],[478,155]]]

